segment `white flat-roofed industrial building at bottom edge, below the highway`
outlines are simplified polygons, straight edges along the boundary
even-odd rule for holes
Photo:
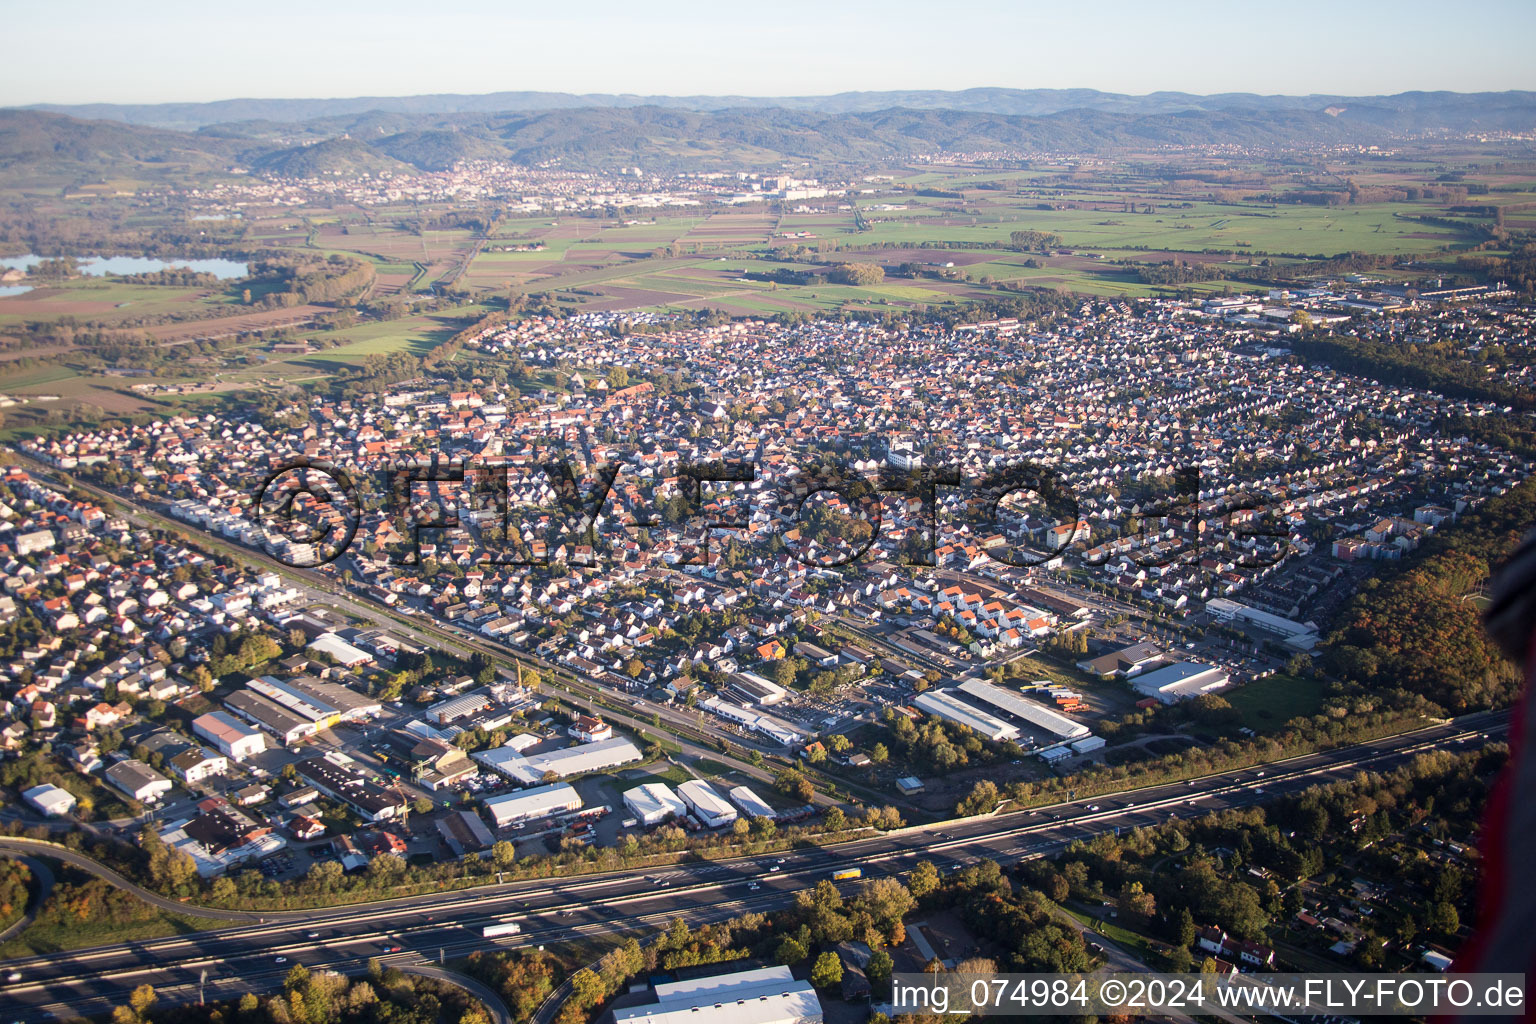
[[[614,1024],[822,1024],[822,1003],[809,981],[788,967],[737,970],[713,978],[659,983],[645,1003],[613,1007]]]

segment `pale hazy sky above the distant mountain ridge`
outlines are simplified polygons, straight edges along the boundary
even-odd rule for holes
[[[0,26],[6,106],[504,89],[1536,89],[1533,0],[3,0]]]

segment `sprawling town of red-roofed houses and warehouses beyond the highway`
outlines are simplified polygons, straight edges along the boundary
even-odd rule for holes
[[[1528,315],[1496,298],[1402,302],[1356,281],[1264,302],[1084,301],[1048,329],[954,332],[662,319],[630,335],[611,315],[535,318],[476,344],[568,367],[561,393],[421,378],[281,424],[175,418],[23,442],[26,465],[0,481],[0,600],[55,640],[11,652],[3,743],[51,751],[68,780],[26,791],[40,814],[154,820],[204,877],[303,874],[295,851],[361,866],[406,851],[384,827],[406,817],[412,851],[510,840],[524,857],[825,809],[782,774],[654,780],[673,729],[856,785],[848,811],[942,815],[977,778],[1114,754],[1103,720],[1304,659],[1315,617],[1372,563],[1525,479],[1527,459],[1435,427],[1499,411],[1488,402],[1287,358],[1301,315],[1350,304],[1381,310],[1372,333],[1528,345]],[[676,390],[614,384],[657,361],[687,367]],[[1384,428],[1361,430],[1367,418]],[[607,484],[579,496],[581,522],[550,451]],[[264,520],[260,474],[304,456],[387,479],[413,454],[473,482],[418,470],[406,507],[375,493],[310,582],[280,571],[313,567],[324,542]],[[825,459],[848,474],[800,487],[796,507],[796,479]],[[679,470],[733,464],[753,471],[722,485]],[[1025,464],[1071,488],[1075,516],[1031,499],[977,511],[978,481]],[[507,490],[485,500],[476,468],[498,465]],[[925,467],[957,470],[954,487],[908,490]],[[882,471],[902,482],[856,494]],[[66,493],[65,473],[121,504]],[[1198,496],[1177,493],[1183,479]],[[323,580],[387,617],[312,609]],[[465,657],[429,657],[413,623]],[[647,728],[616,729],[602,708]],[[892,717],[966,740],[919,763],[872,738]],[[966,745],[985,760],[968,768]]]

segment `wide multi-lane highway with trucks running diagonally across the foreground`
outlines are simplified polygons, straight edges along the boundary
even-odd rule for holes
[[[1504,714],[1484,712],[1370,743],[1273,761],[1263,769],[1097,795],[1034,811],[908,827],[834,847],[270,913],[255,924],[12,960],[3,964],[5,976],[17,972],[20,979],[0,983],[0,1003],[9,1009],[8,1019],[31,1022],[100,1013],[126,1001],[135,986],[146,983],[155,986],[166,1001],[197,998],[200,981],[206,983],[209,998],[224,998],[276,987],[295,963],[315,970],[355,973],[366,967],[370,956],[407,967],[479,949],[542,946],[656,927],[674,917],[690,923],[722,920],[743,910],[785,907],[797,890],[828,878],[836,867],[857,864],[863,877],[871,878],[905,872],[923,858],[940,869],[978,860],[1012,863],[1114,829],[1247,806],[1344,780],[1358,771],[1390,771],[1424,751],[1475,749],[1487,738],[1502,738],[1505,731]],[[17,840],[0,840],[0,847],[37,854],[35,847]],[[757,889],[750,887],[753,883]],[[854,890],[859,884],[842,883],[842,887]],[[484,924],[501,920],[519,921],[522,932],[484,940],[479,933]]]

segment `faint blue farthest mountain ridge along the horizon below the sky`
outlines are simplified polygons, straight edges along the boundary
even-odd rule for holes
[[[487,92],[482,95],[436,94],[421,97],[355,97],[346,100],[218,100],[215,103],[86,103],[37,104],[49,111],[101,121],[126,121],[152,127],[195,130],[230,121],[276,121],[292,124],[316,118],[386,114],[507,114],[570,111],[579,107],[664,107],[671,111],[809,111],[816,114],[871,114],[903,107],[911,111],[965,111],[1049,117],[1066,111],[1097,111],[1146,117],[1189,111],[1226,114],[1322,112],[1341,109],[1350,117],[1382,127],[1453,127],[1461,118],[1502,120],[1522,114],[1530,124],[1536,92],[1404,92],[1392,97],[1306,95],[1279,97],[1250,92],[1192,95],[1152,92],[1126,95],[1097,89],[963,89],[946,92],[915,89],[895,92],[837,92],[820,97],[657,97],[633,94]],[[1491,126],[1490,126],[1491,127]],[[1507,127],[1507,124],[1499,124]]]

